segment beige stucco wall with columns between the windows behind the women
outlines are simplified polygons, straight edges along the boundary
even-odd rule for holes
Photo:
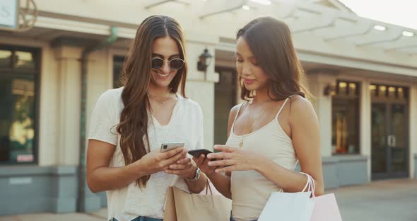
[[[76,165],[79,154],[79,117],[80,117],[80,72],[81,47],[50,47],[49,42],[25,38],[0,37],[0,43],[6,45],[21,45],[39,47],[42,50],[40,75],[40,118],[39,118],[39,164],[46,165]],[[187,36],[187,62],[189,76],[187,79],[187,96],[200,103],[204,114],[204,147],[213,147],[214,130],[214,84],[218,74],[214,73],[215,57],[207,71],[196,70],[196,62],[204,48],[215,55],[218,38],[215,36]],[[114,55],[125,55],[127,48],[114,48],[93,52],[88,59],[88,91],[86,123],[88,131],[90,113],[98,96],[112,88],[112,62]],[[303,53],[300,53],[303,54]],[[339,58],[340,59],[340,58]],[[217,63],[221,64],[221,62]],[[360,153],[370,157],[371,128],[370,128],[370,94],[368,86],[371,83],[397,84],[410,88],[410,174],[414,174],[413,155],[417,153],[417,81],[404,78],[401,75],[382,74],[375,78],[373,74],[361,72],[326,72],[323,70],[307,72],[309,86],[315,98],[313,106],[319,117],[322,139],[322,156],[331,156],[331,98],[323,96],[324,87],[336,79],[360,81],[362,93],[360,96]],[[389,76],[389,77],[388,77]],[[238,95],[239,93],[237,93]],[[238,102],[239,103],[239,102]],[[368,175],[370,175],[370,160]],[[412,175],[411,175],[412,176]],[[368,176],[370,177],[370,176]]]

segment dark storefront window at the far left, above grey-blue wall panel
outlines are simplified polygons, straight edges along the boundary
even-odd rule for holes
[[[0,164],[35,162],[36,55],[0,46]]]

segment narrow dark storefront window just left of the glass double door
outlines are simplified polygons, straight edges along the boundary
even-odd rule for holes
[[[360,84],[337,81],[332,93],[333,154],[359,154],[359,94]]]

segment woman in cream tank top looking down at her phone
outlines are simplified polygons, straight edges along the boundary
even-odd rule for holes
[[[315,195],[324,192],[319,125],[285,23],[264,17],[240,29],[236,68],[247,102],[230,111],[219,152],[194,161],[233,200],[230,220],[257,220],[272,192],[303,189],[297,162],[315,180]]]

